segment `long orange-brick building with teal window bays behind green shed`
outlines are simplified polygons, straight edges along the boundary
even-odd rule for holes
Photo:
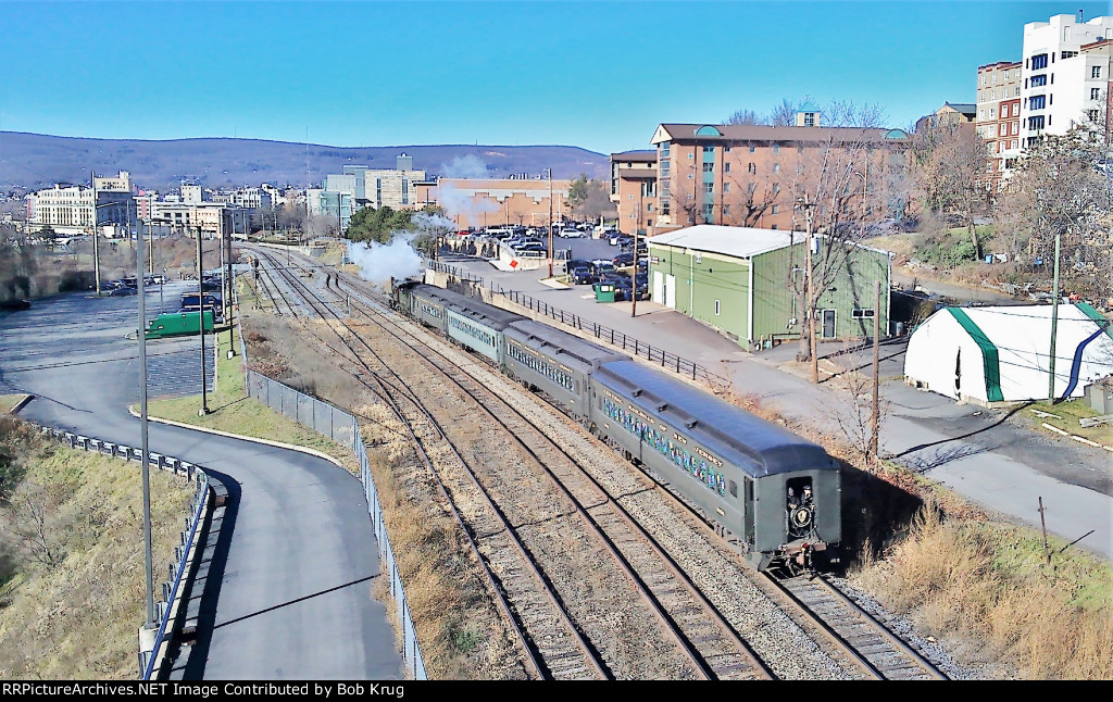
[[[847,206],[869,212],[887,201],[887,174],[903,167],[907,138],[899,129],[660,125],[651,141],[658,176],[649,234],[698,224],[802,229],[797,198],[814,191],[831,144],[839,158],[855,154],[847,167],[858,196]]]

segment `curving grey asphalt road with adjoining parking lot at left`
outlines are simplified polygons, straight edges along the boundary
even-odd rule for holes
[[[177,300],[169,287],[165,297]],[[148,294],[148,307],[157,301]],[[138,326],[135,309],[135,297],[66,295],[0,313],[0,393],[36,395],[27,419],[138,446],[139,422],[126,411],[138,398],[137,352],[124,338]],[[149,343],[148,354],[177,369],[161,386],[152,376],[152,387],[197,392],[199,368],[186,370],[190,358],[199,365],[196,338]],[[221,531],[216,607],[203,612],[211,627],[185,663],[187,679],[403,676],[370,593],[378,558],[358,479],[299,452],[166,425],[150,425],[150,448],[217,472],[239,495]]]

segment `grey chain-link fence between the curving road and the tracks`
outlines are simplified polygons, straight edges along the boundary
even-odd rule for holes
[[[240,340],[240,350],[243,353],[243,340]],[[246,360],[246,355],[244,358]],[[246,369],[245,380],[247,394],[250,397],[298,424],[312,427],[318,434],[329,437],[337,444],[351,446],[352,451],[355,452],[356,458],[359,461],[359,477],[367,495],[367,511],[375,528],[375,540],[378,542],[378,558],[384,566],[384,573],[390,579],[391,596],[396,603],[398,622],[402,623],[402,653],[406,671],[414,680],[427,680],[425,661],[422,659],[421,645],[417,642],[417,632],[414,630],[410,604],[406,602],[406,593],[402,586],[402,574],[398,572],[394,550],[391,547],[391,541],[386,534],[383,508],[378,503],[378,490],[371,475],[371,463],[367,461],[367,453],[364,449],[356,418],[343,409],[299,393],[255,370]]]

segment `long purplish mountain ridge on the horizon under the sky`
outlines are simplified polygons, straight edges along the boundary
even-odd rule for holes
[[[308,151],[308,152],[307,152]],[[127,170],[140,188],[168,191],[189,179],[209,188],[262,182],[305,187],[323,184],[344,165],[394,168],[395,157],[413,157],[426,175],[457,178],[536,176],[605,178],[609,157],[574,146],[373,146],[335,147],[264,139],[91,139],[0,131],[0,190],[39,189],[55,182],[88,184],[89,170]],[[306,159],[308,158],[308,178]]]

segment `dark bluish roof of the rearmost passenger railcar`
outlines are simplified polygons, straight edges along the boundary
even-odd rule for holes
[[[837,468],[821,446],[633,360],[604,364],[592,377],[627,397],[640,389],[631,402],[755,477]]]

